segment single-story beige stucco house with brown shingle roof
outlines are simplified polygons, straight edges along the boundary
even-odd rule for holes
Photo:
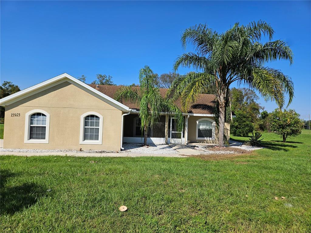
[[[0,99],[5,106],[4,148],[119,151],[123,142],[143,142],[139,108],[114,100],[118,88],[87,85],[64,73]],[[162,95],[166,91],[160,89]],[[201,94],[183,113],[182,132],[177,131],[175,119],[163,112],[150,128],[147,142],[217,144],[214,98]],[[225,135],[230,135],[228,123]]]

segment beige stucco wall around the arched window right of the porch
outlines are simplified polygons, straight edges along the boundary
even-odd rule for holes
[[[218,144],[218,129],[215,127],[215,139],[214,140],[205,140],[197,139],[197,120],[201,118],[209,118],[214,121],[214,117],[197,117],[190,116],[188,119],[188,143],[212,143]],[[225,123],[225,135],[229,139],[230,136],[230,124]]]

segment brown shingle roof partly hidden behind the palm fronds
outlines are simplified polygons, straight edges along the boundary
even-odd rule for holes
[[[121,86],[112,86],[112,85],[98,85],[96,87],[95,84],[88,84],[92,88],[100,91],[101,93],[104,93],[105,95],[108,95],[111,98],[114,98],[114,94],[117,92],[117,90]],[[139,89],[139,87],[133,87]],[[160,94],[164,97],[168,89],[166,88],[160,88]],[[199,99],[197,100],[197,103],[193,104],[192,107],[189,109],[188,113],[195,113],[195,114],[212,114],[212,107],[214,103],[215,95],[211,94],[200,94]],[[139,109],[139,106],[135,103],[132,103],[130,101],[120,101],[120,103],[123,103],[124,105],[128,106],[132,109]],[[181,108],[180,100],[178,99],[175,104]]]

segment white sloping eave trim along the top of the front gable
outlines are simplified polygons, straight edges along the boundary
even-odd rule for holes
[[[76,78],[72,77],[71,75],[68,75],[67,73],[63,73],[61,75],[58,75],[54,78],[51,78],[49,80],[43,81],[42,83],[39,83],[37,85],[31,86],[29,88],[26,88],[24,90],[21,90],[19,92],[16,92],[12,95],[9,95],[7,97],[4,97],[0,99],[0,105],[5,106],[11,103],[14,103],[16,101],[19,101],[23,98],[26,98],[28,96],[31,96],[33,94],[39,93],[40,91],[43,91],[45,89],[48,89],[52,86],[58,85],[62,82],[68,81],[71,84],[85,90],[86,92],[94,95],[97,98],[100,98],[104,102],[122,110],[122,111],[129,111],[129,107],[125,106],[124,104],[116,101],[114,98],[104,94],[103,92],[100,92],[99,90],[96,90],[92,88],[91,86],[77,80]]]

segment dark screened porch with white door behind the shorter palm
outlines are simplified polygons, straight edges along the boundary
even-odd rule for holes
[[[165,135],[167,127],[167,135]],[[148,127],[147,143],[184,143],[184,129],[178,132],[175,119],[161,115],[159,121]],[[138,114],[124,116],[123,142],[143,143],[144,131],[141,130],[141,119]]]

